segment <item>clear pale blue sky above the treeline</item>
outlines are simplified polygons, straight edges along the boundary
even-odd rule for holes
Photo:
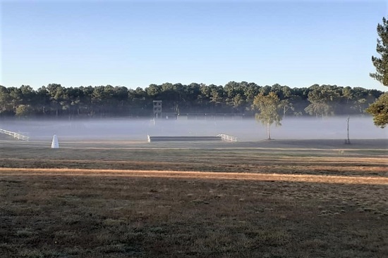
[[[0,2],[4,86],[245,81],[388,90],[369,77],[385,0]]]

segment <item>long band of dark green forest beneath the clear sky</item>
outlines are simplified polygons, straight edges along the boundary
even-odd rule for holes
[[[0,86],[0,117],[66,118],[152,117],[153,102],[162,101],[162,112],[174,114],[255,115],[255,96],[274,92],[281,101],[281,116],[362,115],[382,95],[376,89],[318,85],[293,88],[253,82],[228,82],[224,86],[192,83],[150,84],[145,89],[126,86],[63,87],[48,84]]]

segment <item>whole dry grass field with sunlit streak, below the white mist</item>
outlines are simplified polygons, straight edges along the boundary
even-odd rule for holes
[[[387,140],[0,146],[0,257],[388,257]]]

